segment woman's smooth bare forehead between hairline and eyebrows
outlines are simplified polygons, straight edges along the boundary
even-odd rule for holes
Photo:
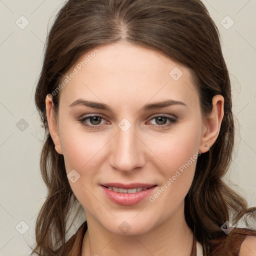
[[[75,75],[60,91],[67,103],[81,97],[109,104],[135,100],[142,105],[151,98],[198,102],[191,69],[158,51],[126,42],[84,53],[66,75],[72,72]]]

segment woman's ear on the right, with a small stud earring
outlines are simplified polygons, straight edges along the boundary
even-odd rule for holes
[[[200,141],[200,146],[198,149],[201,153],[208,151],[210,146],[217,139],[223,116],[224,116],[224,98],[221,95],[215,95],[212,98],[212,111],[206,117],[203,124],[203,132],[202,132],[202,137]]]

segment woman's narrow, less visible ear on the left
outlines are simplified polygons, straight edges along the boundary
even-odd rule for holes
[[[62,154],[62,148],[61,148],[61,144],[60,144],[57,122],[56,122],[56,120],[54,118],[54,114],[53,114],[53,101],[52,101],[51,94],[48,94],[45,98],[45,108],[46,108],[46,116],[47,116],[49,132],[50,132],[50,136],[53,140],[53,143],[55,145],[55,150],[59,154]]]

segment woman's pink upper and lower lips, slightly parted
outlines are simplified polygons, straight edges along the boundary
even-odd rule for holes
[[[106,186],[110,187],[118,187],[123,189],[133,189],[137,187],[149,187],[146,190],[142,190],[135,193],[120,193],[113,191]],[[101,184],[102,189],[104,190],[106,196],[113,201],[114,203],[121,205],[133,205],[136,204],[143,199],[147,198],[155,189],[156,185],[154,184],[145,184],[145,183],[131,183],[131,184],[122,184],[122,183],[105,183]]]

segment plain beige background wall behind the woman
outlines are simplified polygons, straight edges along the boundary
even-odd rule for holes
[[[62,3],[0,0],[0,255],[30,253],[26,243],[34,241],[35,219],[46,196],[39,172],[43,129],[33,94],[47,27]],[[237,184],[235,189],[250,206],[256,206],[256,1],[203,3],[221,34],[232,83],[233,113],[240,123],[238,127],[236,122],[235,149],[227,178]],[[22,27],[26,22],[28,25]],[[26,227],[24,234],[18,232]]]

